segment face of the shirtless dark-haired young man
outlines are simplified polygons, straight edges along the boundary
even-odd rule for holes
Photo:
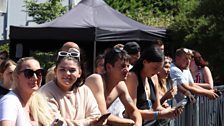
[[[110,68],[110,70],[117,78],[120,79],[120,81],[123,81],[127,79],[128,67],[129,61],[118,60],[115,62],[114,66]]]

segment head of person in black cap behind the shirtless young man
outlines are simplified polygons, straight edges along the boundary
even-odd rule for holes
[[[133,65],[137,62],[137,60],[140,58],[140,46],[137,42],[128,42],[124,45],[123,48],[125,51],[127,51],[128,55],[130,55],[129,60],[129,70],[133,67]]]

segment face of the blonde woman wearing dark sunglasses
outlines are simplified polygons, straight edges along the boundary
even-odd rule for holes
[[[41,69],[39,62],[36,60],[30,59],[26,60],[22,63],[22,68],[17,75],[18,88],[20,88],[23,92],[32,93],[39,89],[42,76],[38,77],[36,74],[33,74],[31,78],[27,78],[24,74],[25,69],[30,69],[33,71]]]

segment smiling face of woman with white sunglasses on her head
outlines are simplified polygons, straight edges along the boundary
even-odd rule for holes
[[[81,76],[81,69],[72,59],[63,59],[55,69],[57,85],[64,91],[71,90],[73,84]]]

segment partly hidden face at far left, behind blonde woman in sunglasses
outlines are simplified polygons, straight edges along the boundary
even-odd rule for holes
[[[6,87],[7,89],[10,89],[13,83],[13,79],[12,79],[12,73],[15,70],[16,66],[11,64],[9,65],[4,73],[3,73],[3,85],[4,87]]]

